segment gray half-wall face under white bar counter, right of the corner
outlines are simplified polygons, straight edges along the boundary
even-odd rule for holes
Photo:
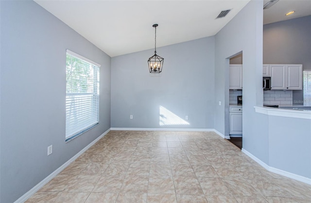
[[[310,179],[311,120],[280,116],[267,117],[269,120],[269,166]]]

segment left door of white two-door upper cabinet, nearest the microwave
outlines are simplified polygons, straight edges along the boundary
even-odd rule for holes
[[[286,65],[270,64],[271,90],[286,90]]]

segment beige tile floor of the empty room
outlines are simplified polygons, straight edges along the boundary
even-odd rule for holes
[[[311,203],[214,132],[110,131],[26,203]]]

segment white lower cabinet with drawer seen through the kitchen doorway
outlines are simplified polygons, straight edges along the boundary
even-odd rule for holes
[[[229,134],[242,135],[242,107],[229,107]]]

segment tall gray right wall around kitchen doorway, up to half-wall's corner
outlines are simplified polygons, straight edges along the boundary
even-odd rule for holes
[[[243,54],[243,148],[268,162],[268,128],[262,106],[262,1],[250,1],[215,36],[215,129],[228,134],[228,67],[230,57]],[[225,105],[219,106],[218,101]]]

